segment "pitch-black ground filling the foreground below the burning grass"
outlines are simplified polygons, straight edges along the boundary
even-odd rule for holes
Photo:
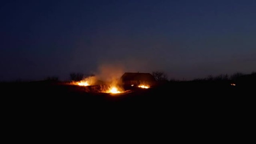
[[[98,88],[59,82],[2,83],[4,132],[19,141],[47,141],[51,135],[66,140],[83,132],[98,138],[128,132],[125,141],[131,134],[143,140],[160,134],[169,141],[225,138],[243,143],[248,139],[242,136],[252,136],[247,130],[255,123],[252,84],[178,82],[122,94],[94,92]]]

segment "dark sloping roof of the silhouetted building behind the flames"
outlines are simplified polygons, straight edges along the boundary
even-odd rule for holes
[[[140,81],[156,81],[155,77],[153,77],[150,73],[124,73],[121,76],[122,81],[129,81],[129,80],[140,80]]]

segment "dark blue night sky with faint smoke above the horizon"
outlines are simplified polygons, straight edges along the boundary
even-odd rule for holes
[[[6,0],[0,81],[256,70],[255,0]]]

